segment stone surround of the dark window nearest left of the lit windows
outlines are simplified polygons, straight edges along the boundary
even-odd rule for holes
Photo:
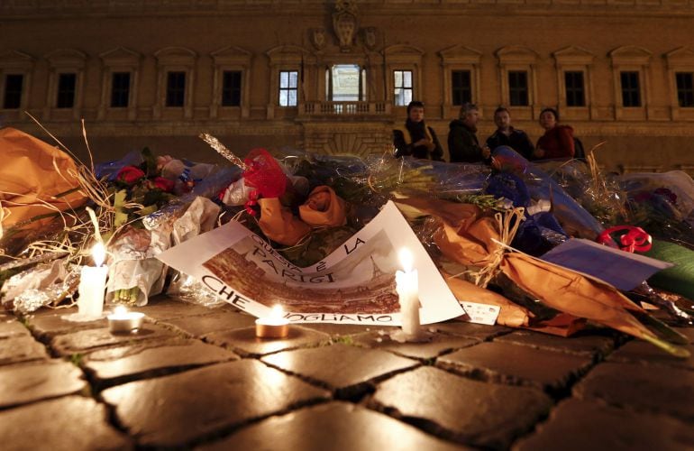
[[[212,101],[210,102],[210,117],[215,118],[219,108],[238,108],[221,106],[223,77],[225,70],[238,70],[241,72],[241,117],[250,115],[251,104],[251,61],[250,51],[241,47],[228,46],[218,51],[213,51],[210,56],[215,61],[215,75],[212,84]]]

